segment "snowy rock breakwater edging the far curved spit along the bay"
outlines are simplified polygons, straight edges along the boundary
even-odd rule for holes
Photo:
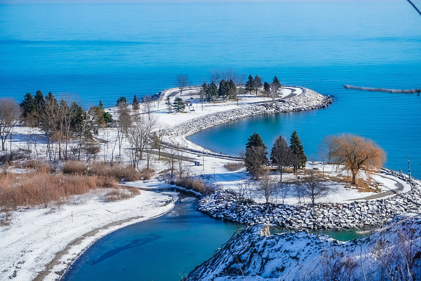
[[[333,98],[331,96],[324,96],[304,87],[297,88],[301,90],[301,93],[285,100],[276,101],[273,106],[272,103],[258,103],[208,114],[173,126],[166,131],[166,134],[170,136],[188,136],[201,130],[244,117],[260,114],[321,109],[327,107],[333,102]]]

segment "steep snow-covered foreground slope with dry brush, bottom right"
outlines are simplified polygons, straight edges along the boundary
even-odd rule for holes
[[[192,270],[189,281],[420,280],[421,218],[351,241],[254,225]]]

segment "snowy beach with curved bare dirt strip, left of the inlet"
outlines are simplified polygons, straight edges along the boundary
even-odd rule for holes
[[[173,207],[171,196],[141,191],[116,202],[85,194],[56,209],[21,209],[0,232],[0,280],[56,280],[97,239]]]

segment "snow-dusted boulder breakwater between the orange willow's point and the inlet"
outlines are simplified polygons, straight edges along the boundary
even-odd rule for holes
[[[384,169],[387,175],[409,180],[399,172]],[[412,190],[404,196],[352,201],[350,203],[316,203],[298,205],[263,204],[240,197],[232,190],[221,190],[203,197],[197,204],[211,217],[253,225],[267,223],[289,229],[314,230],[373,227],[386,223],[397,214],[419,213],[421,182],[411,179]]]

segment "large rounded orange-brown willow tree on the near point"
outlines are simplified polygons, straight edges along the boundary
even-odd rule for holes
[[[342,134],[334,137],[333,143],[333,159],[342,164],[341,169],[351,172],[353,184],[360,171],[373,172],[386,160],[384,150],[367,138]]]

